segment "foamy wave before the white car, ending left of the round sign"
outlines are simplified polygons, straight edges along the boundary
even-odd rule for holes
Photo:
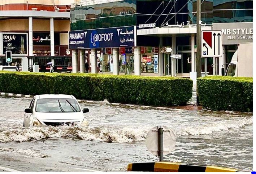
[[[33,128],[5,130],[0,133],[0,142],[23,142],[53,137],[126,143],[144,140],[146,138],[146,131],[135,128],[117,128],[108,126],[96,128],[76,126],[38,126]]]

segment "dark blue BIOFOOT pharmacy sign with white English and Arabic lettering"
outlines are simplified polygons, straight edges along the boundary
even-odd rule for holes
[[[69,49],[136,46],[136,27],[69,31]]]

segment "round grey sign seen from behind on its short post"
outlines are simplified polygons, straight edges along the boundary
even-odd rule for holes
[[[159,160],[164,160],[164,155],[168,155],[175,147],[175,134],[166,126],[155,126],[149,130],[146,138],[146,145],[153,155],[159,156]]]

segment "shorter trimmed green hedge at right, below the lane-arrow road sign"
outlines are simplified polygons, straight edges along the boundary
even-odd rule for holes
[[[201,77],[197,88],[204,108],[252,112],[252,77]]]

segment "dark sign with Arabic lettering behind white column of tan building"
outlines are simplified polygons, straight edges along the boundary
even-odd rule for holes
[[[50,33],[34,33],[33,32],[33,45],[51,45]],[[60,45],[60,34],[54,34],[54,45]]]

